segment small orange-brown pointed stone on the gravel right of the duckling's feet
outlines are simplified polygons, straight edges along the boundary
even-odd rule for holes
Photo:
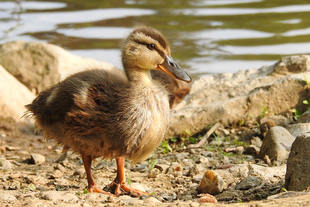
[[[200,193],[209,193],[215,195],[227,189],[227,184],[217,175],[213,170],[208,170],[204,173],[202,181],[200,182],[197,191]]]

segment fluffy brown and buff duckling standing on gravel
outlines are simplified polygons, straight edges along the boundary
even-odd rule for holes
[[[169,125],[169,94],[153,80],[150,70],[161,70],[175,79],[191,78],[171,57],[165,37],[149,26],[136,26],[122,43],[124,71],[86,69],[42,91],[27,113],[47,140],[53,139],[81,155],[89,192],[133,197],[149,193],[126,184],[125,158],[131,165],[147,159],[162,142]],[[93,159],[116,159],[114,194],[95,183]]]

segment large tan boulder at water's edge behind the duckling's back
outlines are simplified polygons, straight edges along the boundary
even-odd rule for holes
[[[0,64],[35,93],[90,65],[113,68],[112,64],[70,54],[56,45],[23,41],[1,45]]]

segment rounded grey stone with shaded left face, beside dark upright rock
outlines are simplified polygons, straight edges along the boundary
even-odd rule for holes
[[[271,160],[283,161],[288,158],[295,138],[283,127],[271,127],[264,139],[258,155],[263,159],[267,155]]]

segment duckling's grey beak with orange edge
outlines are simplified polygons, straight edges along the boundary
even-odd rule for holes
[[[157,69],[168,73],[175,79],[183,80],[188,83],[192,81],[186,72],[175,63],[171,56],[166,55],[166,59],[162,64],[157,65]]]

